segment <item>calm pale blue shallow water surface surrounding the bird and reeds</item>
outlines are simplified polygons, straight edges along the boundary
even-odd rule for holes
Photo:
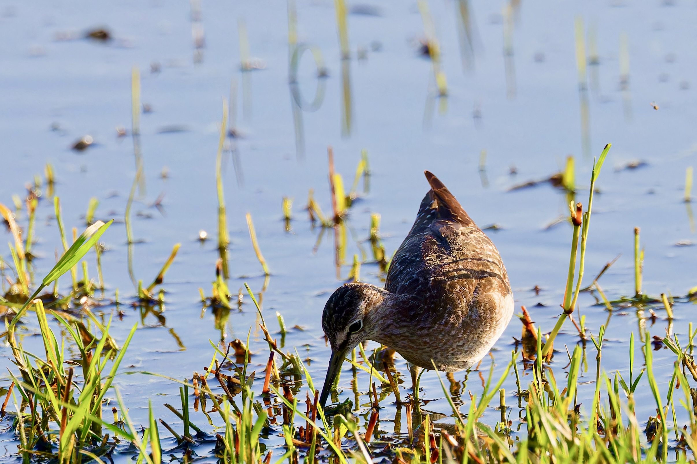
[[[682,198],[685,168],[694,164],[697,150],[691,130],[697,106],[690,81],[697,58],[691,27],[697,9],[687,1],[668,3],[591,1],[581,7],[570,1],[524,2],[512,10],[507,21],[507,3],[473,1],[473,62],[464,65],[456,3],[431,1],[448,86],[447,99],[438,99],[431,61],[418,54],[424,28],[416,3],[387,1],[375,4],[377,12],[372,13],[379,15],[349,15],[351,59],[342,62],[333,3],[299,1],[298,41],[319,47],[328,70],[328,77],[322,79],[325,94],[319,109],[299,111],[305,146],[299,152],[288,79],[285,5],[204,2],[205,47],[202,61],[194,63],[189,3],[8,2],[0,7],[0,56],[4,58],[0,79],[5,89],[0,93],[0,202],[11,205],[11,195],[23,195],[24,185],[33,175],[43,173],[49,162],[56,171],[56,195],[61,198],[68,230],[84,227],[82,215],[91,197],[100,200],[97,218],[123,220],[136,168],[132,139],[118,138],[114,127],[123,125],[130,131],[130,73],[132,66],[139,68],[142,102],[152,111],[140,116],[146,191],[132,208],[134,236],[143,241],[135,245],[135,278],[147,285],[174,243],[181,242],[182,247],[164,280],[167,304],[162,324],[152,315],[141,321],[139,312],[130,306],[135,289],[128,275],[123,223],[115,223],[104,237],[109,247],[102,257],[107,297],[113,298],[118,289],[125,313],[123,318],[114,318],[112,335],[121,341],[133,324],[139,324],[122,364],[123,374],[115,382],[136,424],[146,422],[147,399],[152,398],[156,413],[176,427],[176,417],[162,403],[176,401],[176,396],[168,397],[178,394],[178,385],[128,372],[190,378],[193,371],[203,371],[210,362],[213,348],[209,340],[220,341],[210,310],[201,317],[198,291],[201,287],[210,294],[217,257],[215,239],[201,244],[197,237],[199,230],[206,230],[210,237],[216,234],[215,154],[221,102],[229,99],[231,82],[236,88],[233,118],[241,134],[236,139],[241,169],[235,172],[226,152],[229,287],[233,292],[244,282],[255,292],[263,287],[263,271],[245,223],[249,211],[272,273],[263,292],[268,326],[277,330],[273,316],[279,311],[286,326],[302,327],[289,330],[286,348],[296,347],[300,358],[309,358],[309,371],[317,383],[329,356],[320,324],[323,305],[347,278],[353,254],[360,256],[356,241],[367,239],[371,213],[381,214],[388,255],[399,246],[427,191],[424,169],[443,180],[477,224],[502,227],[488,233],[507,266],[516,312],[526,305],[535,323],[549,331],[560,312],[571,227],[566,223],[546,226],[567,214],[567,197],[549,184],[508,189],[549,177],[573,154],[576,183],[581,186],[576,200],[585,204],[588,191],[583,189],[588,186],[592,157],[611,142],[597,184],[600,194],[594,202],[585,282],[590,284],[606,262],[621,254],[600,283],[611,300],[634,294],[633,230],[641,227],[645,292],[682,296],[697,285],[697,248],[675,245],[695,240],[691,206]],[[362,8],[364,13],[366,9]],[[587,47],[589,28],[597,30],[599,56],[599,64],[588,67],[589,89],[581,95],[574,54],[574,20],[579,16]],[[258,58],[263,70],[240,71],[240,21],[246,24],[251,58]],[[95,26],[107,26],[114,39],[101,43],[80,38]],[[505,33],[512,37],[508,70]],[[625,33],[630,72],[628,89],[622,91],[620,42]],[[56,40],[58,36],[75,39]],[[358,49],[365,50],[365,58],[358,58]],[[151,72],[153,63],[158,63],[159,72]],[[342,67],[348,68],[350,76],[348,134],[345,125],[342,127]],[[300,91],[309,102],[318,80],[307,52],[298,76]],[[585,140],[583,95],[588,102],[589,136]],[[70,150],[86,134],[93,136],[95,144],[84,152]],[[325,232],[314,253],[320,229],[310,226],[302,210],[308,189],[314,189],[325,213],[331,209],[328,145],[334,149],[336,170],[344,175],[346,184],[353,179],[362,149],[368,152],[372,172],[369,193],[350,212],[348,223],[355,232],[348,234],[346,263],[339,269],[341,280],[334,264],[333,233]],[[487,150],[484,172],[479,169],[482,150]],[[624,167],[635,160],[645,166]],[[512,166],[515,175],[510,174]],[[162,178],[165,167],[168,176]],[[164,214],[153,206],[161,194]],[[291,232],[284,230],[282,221],[284,195],[294,198]],[[20,225],[26,225],[26,211],[20,215]],[[34,253],[41,258],[35,261],[36,275],[41,276],[52,267],[54,249],[60,246],[50,202],[40,202],[36,225],[39,241]],[[9,241],[10,235],[5,238]],[[369,255],[369,244],[361,246]],[[10,257],[3,254],[3,259]],[[89,263],[95,275],[93,257]],[[380,285],[379,278],[375,264],[362,266],[362,280]],[[61,285],[65,288],[68,279],[63,278]],[[536,285],[542,289],[539,295],[532,290]],[[588,294],[581,296],[585,324],[596,334],[608,313],[602,306],[592,305],[594,302]],[[114,307],[102,311],[108,317]],[[665,312],[657,314],[653,325],[650,320],[642,323],[652,334],[664,335]],[[693,320],[691,303],[677,303],[675,316],[674,332],[687,334],[687,324]],[[252,357],[256,366],[252,369],[259,372],[267,354],[256,318],[250,299],[245,298],[243,310],[231,313],[224,340],[246,339],[251,330],[250,347],[258,353]],[[626,370],[629,334],[632,330],[638,333],[639,321],[631,307],[616,310],[611,317],[602,358],[606,371]],[[28,332],[36,333],[36,324],[27,322]],[[570,324],[565,330],[558,349],[579,341]],[[514,318],[493,351],[497,372],[510,357],[512,337],[520,334],[521,325]],[[29,351],[29,347],[40,350],[38,337],[26,337],[24,343]],[[591,346],[589,343],[589,381],[595,378]],[[2,350],[1,363],[11,369],[11,353]],[[563,352],[558,357],[555,364],[561,368],[566,357]],[[641,351],[637,358],[642,359]],[[659,387],[665,392],[673,356],[663,349],[654,353],[654,360]],[[482,363],[484,377],[488,363],[488,358]],[[403,361],[398,367],[406,375]],[[562,372],[558,379],[560,376]],[[346,377],[341,399],[352,397]],[[456,378],[461,381],[464,374],[456,374]],[[510,394],[515,390],[514,377],[504,386],[509,392],[507,403],[515,406],[516,397]],[[367,375],[359,374],[359,387],[367,390]],[[437,400],[427,409],[447,413],[434,373],[424,374],[422,387],[422,397]],[[589,401],[594,389],[592,384],[582,386],[579,401]],[[476,372],[470,374],[464,390],[481,392]],[[638,417],[648,417],[655,409],[650,390],[640,387],[640,391],[648,401],[638,401]],[[382,429],[392,430],[385,420],[394,413],[392,408],[381,412]],[[513,408],[514,429],[517,413]],[[485,422],[493,425],[497,417],[499,412],[491,408]],[[192,421],[206,425],[200,413]],[[17,442],[11,431],[2,438],[9,457]],[[269,440],[270,445],[280,442],[277,437]],[[206,455],[212,447],[204,444],[196,452]],[[119,459],[125,461],[125,456]]]

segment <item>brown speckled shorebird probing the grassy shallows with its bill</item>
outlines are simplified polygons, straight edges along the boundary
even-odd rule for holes
[[[424,173],[431,189],[390,262],[385,288],[342,285],[324,307],[332,355],[321,406],[361,342],[388,346],[417,367],[454,372],[479,362],[511,319],[513,293],[496,246],[443,182]]]

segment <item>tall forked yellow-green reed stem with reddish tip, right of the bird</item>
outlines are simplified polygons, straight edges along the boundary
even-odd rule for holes
[[[603,164],[605,163],[605,159],[608,155],[608,152],[610,151],[610,147],[612,146],[611,143],[608,143],[605,145],[602,153],[600,154],[599,159],[597,162],[593,161],[593,170],[590,175],[590,193],[588,194],[588,211],[583,214],[583,218],[576,218],[578,221],[581,221],[583,224],[582,230],[581,230],[581,257],[579,259],[579,278],[576,282],[576,291],[574,292],[574,296],[572,301],[567,301],[569,298],[572,298],[571,295],[571,287],[569,285],[569,282],[572,282],[573,280],[573,273],[576,265],[576,250],[577,250],[577,243],[578,243],[578,233],[579,231],[576,228],[576,225],[574,223],[574,241],[576,241],[576,245],[572,243],[572,256],[571,259],[569,260],[569,275],[567,275],[567,289],[564,294],[564,312],[560,315],[559,319],[557,319],[557,323],[555,324],[552,333],[549,335],[549,338],[544,344],[544,350],[543,350],[543,355],[546,356],[549,354],[549,351],[552,348],[552,344],[554,342],[554,339],[556,338],[557,334],[559,333],[559,330],[561,330],[562,326],[564,325],[564,322],[566,321],[568,314],[571,314],[574,311],[574,307],[576,307],[576,301],[579,298],[579,293],[581,289],[581,280],[583,280],[583,271],[585,269],[585,247],[588,242],[588,230],[590,227],[590,214],[592,212],[592,206],[593,206],[593,193],[595,192],[595,181],[598,178],[598,175],[600,174],[600,170],[603,167]],[[571,262],[573,262],[573,266]],[[568,314],[567,314],[568,311]]]

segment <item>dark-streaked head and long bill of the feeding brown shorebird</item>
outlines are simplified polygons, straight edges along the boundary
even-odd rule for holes
[[[332,346],[332,356],[319,400],[322,407],[346,355],[360,342],[375,335],[374,310],[381,305],[387,294],[388,291],[370,284],[346,284],[336,289],[324,305],[322,328]]]

